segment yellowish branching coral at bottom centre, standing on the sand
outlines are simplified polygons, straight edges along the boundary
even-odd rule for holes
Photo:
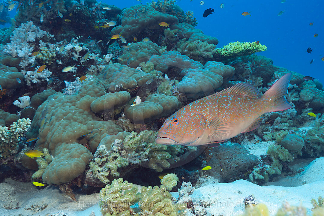
[[[122,178],[114,179],[111,185],[102,188],[99,193],[99,206],[102,215],[184,215],[183,210],[186,209],[187,204],[173,204],[171,201],[172,196],[166,188],[166,185],[170,186],[169,188],[172,189],[172,185],[174,184],[166,181],[165,184],[162,184],[160,187],[142,187],[141,193],[138,193],[138,187],[136,185],[123,181]],[[131,208],[132,205],[139,207],[138,213]]]

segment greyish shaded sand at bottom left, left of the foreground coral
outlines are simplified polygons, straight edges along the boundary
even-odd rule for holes
[[[77,201],[54,186],[38,189],[31,183],[8,178],[0,184],[0,216],[45,216],[59,211],[68,216],[89,216],[91,211],[96,216],[101,215],[99,193],[76,195],[75,198]]]

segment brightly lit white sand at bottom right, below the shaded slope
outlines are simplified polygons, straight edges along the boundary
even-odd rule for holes
[[[175,192],[171,193],[177,196]],[[259,203],[266,204],[271,215],[274,215],[286,201],[295,206],[302,204],[310,213],[313,207],[310,200],[324,196],[324,181],[299,187],[281,187],[259,186],[246,180],[237,180],[198,188],[191,197],[193,201],[213,203],[206,208],[208,215],[234,216],[244,212],[243,201],[249,195],[253,195]]]

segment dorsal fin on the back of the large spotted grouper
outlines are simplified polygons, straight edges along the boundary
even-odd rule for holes
[[[236,95],[242,95],[251,98],[261,97],[258,90],[253,85],[247,83],[238,83],[230,88],[226,88],[220,92],[216,92],[214,95],[223,95],[223,94],[236,94]]]

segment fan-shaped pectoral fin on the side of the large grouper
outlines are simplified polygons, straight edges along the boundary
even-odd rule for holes
[[[227,121],[226,116],[214,118],[207,127],[209,134],[206,140],[206,144],[223,142],[231,138],[233,131],[232,126]]]

